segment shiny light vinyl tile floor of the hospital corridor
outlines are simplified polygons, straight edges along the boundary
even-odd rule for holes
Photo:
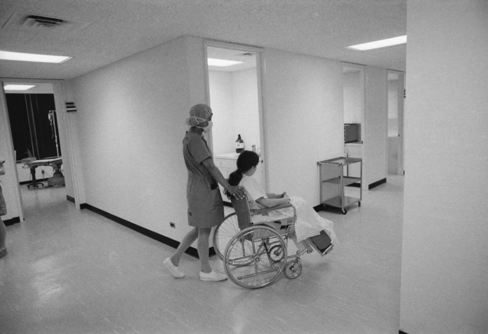
[[[199,262],[173,279],[173,248],[89,210],[64,188],[22,187],[25,221],[7,227],[0,259],[0,333],[398,333],[403,177],[364,192],[361,206],[320,211],[331,253],[302,256],[301,275],[263,289],[202,282]],[[211,258],[220,271],[222,262]]]

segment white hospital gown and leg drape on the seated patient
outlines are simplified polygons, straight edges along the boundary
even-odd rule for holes
[[[259,198],[267,198],[266,192],[253,176],[242,175],[239,186],[246,189],[251,209],[264,207],[257,203],[256,200]],[[320,231],[324,230],[330,237],[332,244],[337,244],[337,236],[333,231],[333,222],[319,216],[312,205],[301,197],[291,196],[290,203],[296,210],[295,233],[297,241],[318,235]],[[253,222],[255,224],[271,222],[289,216],[293,216],[293,208],[291,207],[273,210],[267,216],[253,217]]]

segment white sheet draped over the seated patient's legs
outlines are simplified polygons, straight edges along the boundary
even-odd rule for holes
[[[296,210],[295,233],[297,241],[318,235],[320,231],[324,230],[330,237],[332,244],[337,245],[337,236],[333,231],[334,223],[332,221],[319,216],[312,205],[301,197],[291,196],[290,203]],[[261,218],[256,220],[253,219],[253,222],[255,224],[270,222],[290,216],[293,216],[293,208],[269,212],[267,216],[261,216]]]

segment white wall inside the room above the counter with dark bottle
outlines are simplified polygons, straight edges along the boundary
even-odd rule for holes
[[[246,149],[260,146],[256,68],[209,71],[210,106],[214,112],[212,139],[214,154],[235,151],[240,134]]]

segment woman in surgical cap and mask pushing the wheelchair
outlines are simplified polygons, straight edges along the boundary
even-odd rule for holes
[[[185,273],[179,268],[179,260],[198,238],[200,280],[223,281],[227,279],[225,274],[212,270],[208,262],[208,239],[211,228],[224,220],[224,203],[217,183],[238,198],[243,197],[243,192],[237,186],[229,185],[214,164],[207,142],[202,137],[203,133],[210,131],[211,120],[210,107],[206,104],[197,104],[190,109],[190,118],[186,122],[190,129],[183,139],[183,158],[188,169],[188,224],[193,229],[181,240],[173,256],[163,261],[175,278],[185,276]]]

